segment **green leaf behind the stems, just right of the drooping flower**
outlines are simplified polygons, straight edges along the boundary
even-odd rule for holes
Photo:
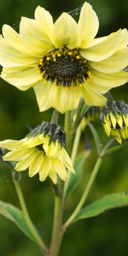
[[[76,161],[74,163],[74,170],[75,170],[76,174],[75,175],[72,174],[70,177],[67,194],[71,194],[73,192],[73,190],[76,189],[76,187],[81,182],[82,175],[83,175],[83,165],[84,165],[84,162],[87,159],[87,157],[89,157],[89,155],[90,155],[90,149],[84,150],[76,158]]]

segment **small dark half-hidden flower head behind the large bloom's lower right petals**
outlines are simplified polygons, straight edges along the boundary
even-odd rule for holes
[[[101,113],[101,107],[90,107],[88,111],[85,113],[84,117],[81,120],[81,129],[84,131],[87,122],[93,122],[97,117],[99,117],[99,114]]]

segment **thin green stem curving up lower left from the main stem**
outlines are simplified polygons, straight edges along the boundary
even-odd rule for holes
[[[35,241],[41,247],[42,252],[47,253],[47,247],[45,246],[44,242],[41,240],[40,236],[38,235],[38,232],[35,230],[35,227],[33,226],[32,221],[30,219],[30,216],[29,216],[29,213],[27,211],[26,204],[25,204],[25,201],[24,201],[24,198],[23,198],[23,193],[22,193],[22,190],[21,190],[21,187],[20,187],[20,183],[19,183],[19,181],[14,180],[14,184],[15,184],[15,188],[16,188],[16,191],[17,191],[19,201],[20,201],[20,206],[22,208],[22,211],[23,211],[24,217],[26,219],[26,222],[29,226],[29,229],[31,230],[32,235],[34,236]]]

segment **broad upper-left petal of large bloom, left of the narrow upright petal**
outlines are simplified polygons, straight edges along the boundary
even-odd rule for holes
[[[48,35],[36,20],[22,17],[20,21],[20,36],[27,47],[37,51],[40,57],[55,49]]]

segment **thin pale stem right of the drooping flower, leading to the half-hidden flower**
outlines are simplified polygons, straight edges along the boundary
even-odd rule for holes
[[[73,151],[72,151],[72,155],[71,155],[72,164],[74,164],[75,159],[76,159],[80,137],[81,137],[81,125],[79,125],[79,127],[77,128],[75,140],[73,143]],[[68,185],[70,182],[70,177],[71,177],[71,172],[68,172],[67,179],[64,184],[63,201],[65,201],[65,198],[66,198],[67,189],[68,189]]]

